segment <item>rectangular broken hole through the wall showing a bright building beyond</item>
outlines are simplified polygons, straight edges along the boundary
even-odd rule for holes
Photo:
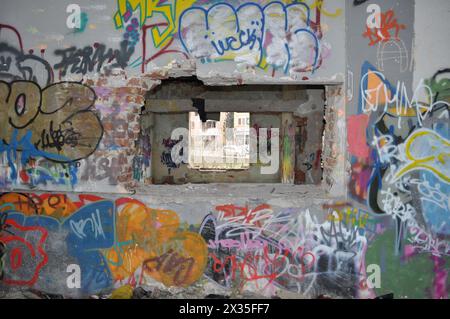
[[[325,104],[323,86],[163,81],[142,114],[151,141],[146,181],[320,185],[330,144]]]

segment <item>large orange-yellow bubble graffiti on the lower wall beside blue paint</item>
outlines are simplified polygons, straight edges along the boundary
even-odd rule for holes
[[[118,244],[105,253],[115,280],[132,276],[139,267],[169,287],[186,287],[202,276],[206,242],[182,231],[177,213],[132,202],[118,212],[116,227]]]

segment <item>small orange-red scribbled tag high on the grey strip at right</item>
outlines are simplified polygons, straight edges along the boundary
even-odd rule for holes
[[[391,31],[395,29],[394,37]],[[399,24],[397,18],[395,17],[394,10],[388,10],[385,13],[381,13],[381,21],[379,28],[369,28],[367,27],[366,32],[363,33],[365,38],[370,40],[369,46],[373,46],[379,42],[387,42],[391,39],[398,40],[400,30],[406,29],[404,24]]]

